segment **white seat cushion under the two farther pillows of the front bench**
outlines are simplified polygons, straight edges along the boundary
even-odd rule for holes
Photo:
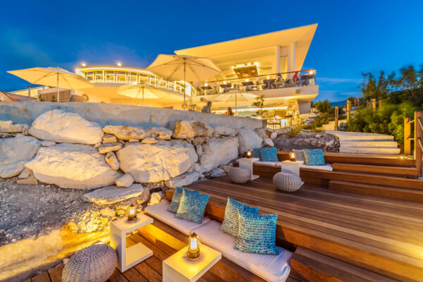
[[[168,201],[160,202],[159,204],[153,204],[152,206],[145,208],[145,213],[154,216],[159,221],[166,223],[168,226],[172,226],[176,230],[184,233],[185,235],[190,235],[192,231],[209,222],[210,219],[207,216],[203,217],[202,223],[194,223],[191,221],[185,221],[183,219],[176,219],[175,214],[169,212],[169,205],[171,203]]]

